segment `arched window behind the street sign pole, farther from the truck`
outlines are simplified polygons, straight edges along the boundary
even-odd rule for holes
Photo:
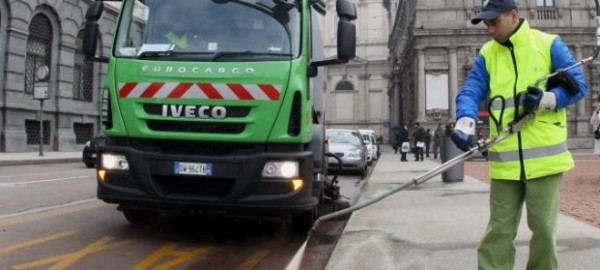
[[[45,65],[48,69],[52,69],[51,58],[52,26],[46,16],[38,14],[33,17],[29,25],[27,55],[25,56],[25,93],[33,93],[33,84],[39,67]]]

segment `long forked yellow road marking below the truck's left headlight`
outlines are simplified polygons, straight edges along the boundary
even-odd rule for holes
[[[83,257],[85,257],[89,254],[100,252],[100,251],[107,250],[107,249],[114,249],[114,248],[117,248],[120,246],[127,245],[133,241],[136,241],[136,240],[130,239],[130,240],[125,240],[125,241],[121,241],[121,242],[108,244],[112,240],[113,240],[113,237],[105,236],[105,237],[100,238],[100,240],[98,240],[90,245],[87,245],[86,247],[84,247],[78,251],[63,254],[63,255],[48,257],[48,258],[44,258],[44,259],[40,259],[40,260],[36,260],[36,261],[32,261],[32,262],[26,262],[26,263],[23,263],[23,264],[20,264],[17,266],[13,266],[13,269],[29,269],[29,268],[39,267],[39,266],[43,266],[43,265],[49,265],[52,263],[53,263],[53,265],[46,269],[50,269],[50,270],[67,269],[67,267],[71,266],[72,264],[81,260]]]

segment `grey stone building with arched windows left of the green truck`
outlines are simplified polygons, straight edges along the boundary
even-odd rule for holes
[[[92,2],[0,0],[0,152],[36,151],[40,112],[47,151],[79,150],[97,134],[106,68],[81,53]],[[115,17],[116,9],[105,8],[100,55],[110,48]]]

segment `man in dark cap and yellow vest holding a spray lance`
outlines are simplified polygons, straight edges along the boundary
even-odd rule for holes
[[[569,49],[556,35],[529,27],[519,17],[513,0],[486,0],[471,21],[483,21],[493,40],[483,45],[462,89],[456,97],[456,126],[451,135],[458,148],[468,150],[476,130],[480,102],[487,95],[502,96],[504,108],[493,105],[490,114],[501,119],[502,128],[515,119],[515,97],[522,92],[523,111],[534,118],[520,132],[488,151],[490,220],[477,249],[479,269],[512,269],[513,240],[523,203],[533,234],[527,269],[558,269],[556,220],[562,175],[574,167],[567,148],[567,106],[587,92],[580,68],[568,71],[570,87],[557,84],[539,87],[537,79],[575,64]],[[568,76],[569,77],[569,76]],[[550,88],[550,89],[547,89]],[[490,123],[490,134],[498,134]]]

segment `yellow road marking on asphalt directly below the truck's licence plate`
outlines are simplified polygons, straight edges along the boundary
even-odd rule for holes
[[[150,267],[153,264],[167,256],[175,257],[175,259],[161,264],[157,267],[153,267],[152,269],[171,269],[172,267],[178,266],[213,249],[212,246],[198,247],[192,250],[177,250],[176,248],[177,245],[174,243],[165,244],[159,250],[155,251],[150,256],[146,257],[141,262],[139,262],[136,266],[132,268],[132,270],[150,269]]]

